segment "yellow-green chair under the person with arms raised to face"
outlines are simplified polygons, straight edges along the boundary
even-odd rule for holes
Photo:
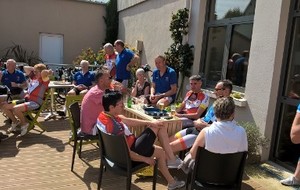
[[[38,109],[27,111],[24,113],[25,118],[27,118],[27,121],[29,123],[28,131],[33,129],[35,126],[38,126],[40,129],[42,129],[41,133],[45,131],[45,127],[42,126],[42,124],[38,122],[37,119],[40,117],[42,111],[48,107],[49,98],[50,98],[50,93],[46,91],[42,105]]]

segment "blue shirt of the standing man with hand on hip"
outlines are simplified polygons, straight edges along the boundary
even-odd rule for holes
[[[124,48],[123,51],[117,55],[116,58],[116,79],[128,80],[130,79],[130,71],[126,70],[128,63],[134,57],[134,53]]]

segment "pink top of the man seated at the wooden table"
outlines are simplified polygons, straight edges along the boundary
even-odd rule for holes
[[[92,87],[83,97],[81,104],[80,126],[81,131],[93,135],[93,128],[97,117],[104,110],[102,96],[104,91],[96,85]],[[95,134],[94,134],[95,135]]]

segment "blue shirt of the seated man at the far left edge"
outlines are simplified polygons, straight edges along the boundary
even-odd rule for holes
[[[10,74],[7,70],[4,70],[2,73],[1,82],[3,85],[6,85],[10,90],[12,90],[15,87],[11,87],[11,82],[22,84],[25,80],[26,79],[22,71],[15,70],[15,72]]]

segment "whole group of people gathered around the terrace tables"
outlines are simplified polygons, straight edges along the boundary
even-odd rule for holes
[[[209,97],[201,90],[201,76],[190,77],[190,91],[186,93],[175,113],[182,119],[184,128],[174,136],[168,136],[167,128],[161,120],[150,122],[125,117],[122,88],[116,86],[128,87],[130,69],[136,64],[138,56],[125,48],[121,40],[114,43],[114,48],[112,44],[104,46],[105,67],[93,73],[88,70],[89,63],[83,60],[80,64],[82,70],[74,75],[75,87],[68,94],[85,94],[81,104],[79,133],[97,135],[98,130],[102,130],[114,135],[125,135],[132,160],[154,165],[156,158],[158,167],[168,182],[168,189],[177,189],[185,185],[184,181],[177,180],[168,170],[184,165],[184,162],[175,156],[176,152],[191,148],[190,157],[195,159],[198,146],[217,153],[248,149],[246,132],[234,121],[235,105],[229,97],[232,91],[232,83],[229,80],[222,80],[216,84],[217,100],[208,107]],[[53,72],[44,64],[26,66],[24,70],[29,77],[29,82],[26,82],[23,73],[10,69],[11,65],[15,64],[14,60],[7,61],[7,72],[0,75],[1,81],[11,89],[27,88],[26,93],[20,95],[24,97],[24,102],[15,105],[3,100],[0,108],[12,121],[8,131],[15,131],[17,126],[20,126],[22,136],[27,133],[29,125],[23,113],[39,108],[48,88],[49,76]],[[167,66],[164,56],[159,55],[155,58],[155,66],[151,82],[147,81],[142,68],[136,71],[137,81],[131,95],[143,97],[146,103],[154,106],[168,106],[175,101],[177,74]],[[10,82],[5,83],[8,79]],[[133,135],[127,127],[145,125],[148,127],[139,136]],[[161,147],[155,145],[157,137]]]

